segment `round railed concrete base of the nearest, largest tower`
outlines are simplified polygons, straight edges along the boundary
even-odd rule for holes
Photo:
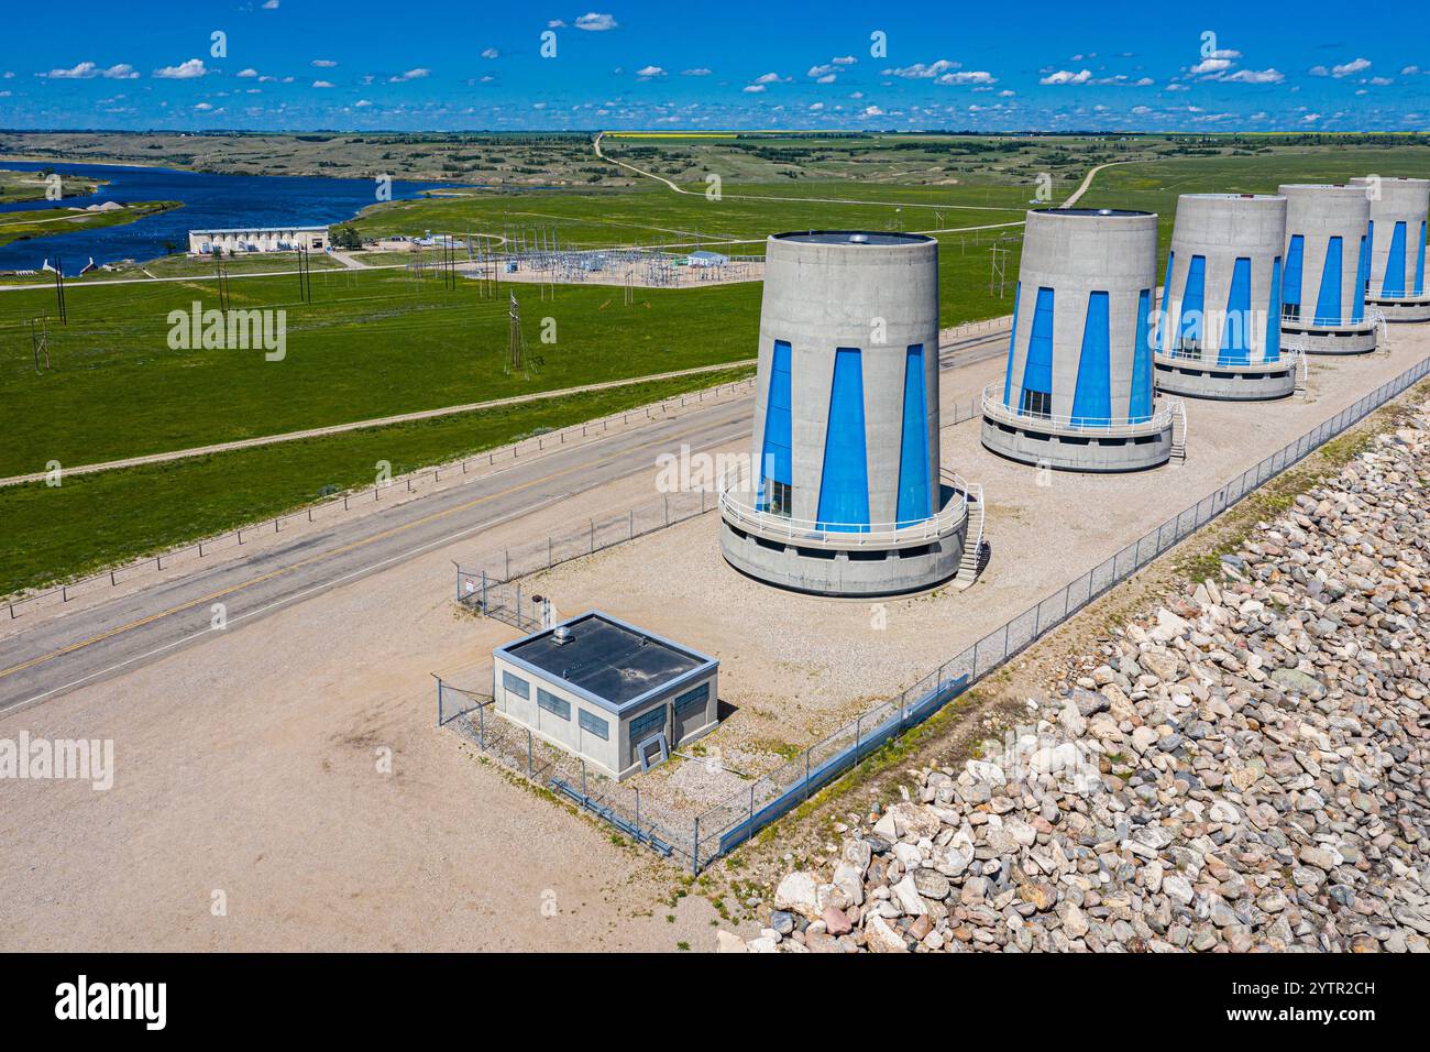
[[[934,518],[895,531],[837,532],[721,498],[719,547],[749,577],[811,595],[864,598],[924,591],[958,573],[968,507],[954,494]]]

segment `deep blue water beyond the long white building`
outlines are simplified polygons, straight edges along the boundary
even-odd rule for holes
[[[177,200],[183,208],[146,216],[120,226],[72,230],[0,245],[0,271],[37,271],[46,259],[64,259],[66,273],[79,273],[93,258],[94,265],[120,259],[154,259],[166,243],[183,252],[189,230],[232,226],[322,226],[352,219],[375,205],[378,185],[372,179],[327,179],[323,176],[242,176],[180,172],[172,167],[87,165],[63,162],[3,160],[0,169],[59,172],[106,180],[97,193],[54,200],[24,200],[0,205],[0,212],[24,212],[56,206],[87,208],[106,200]],[[392,199],[420,198],[446,183],[393,182]],[[59,225],[59,223],[56,223]],[[416,230],[422,233],[422,230]]]

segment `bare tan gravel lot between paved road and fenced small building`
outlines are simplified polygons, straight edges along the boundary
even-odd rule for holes
[[[483,544],[638,495],[603,487]],[[0,946],[708,948],[714,909],[665,902],[679,872],[435,726],[429,673],[480,678],[513,637],[455,608],[458,557],[470,541],[0,717],[0,739],[110,739],[117,771],[107,792],[0,780]]]

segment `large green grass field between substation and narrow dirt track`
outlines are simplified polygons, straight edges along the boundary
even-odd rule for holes
[[[315,272],[312,285],[302,303],[296,278],[230,282],[235,309],[287,312],[283,361],[169,348],[169,312],[216,306],[212,279],[72,288],[40,374],[26,321],[53,313],[54,293],[0,293],[0,415],[33,422],[0,445],[0,477],[739,361],[758,332],[758,285],[639,291],[632,306],[618,288],[543,302],[535,285],[503,285],[480,299],[465,279],[415,296],[402,271]],[[503,374],[508,288],[541,362],[529,376]]]

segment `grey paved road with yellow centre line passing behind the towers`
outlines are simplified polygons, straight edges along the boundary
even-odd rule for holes
[[[945,345],[942,368],[1004,354],[1007,333]],[[651,471],[656,454],[689,444],[708,449],[749,434],[754,402],[742,398],[669,421],[558,449],[488,478],[439,491],[373,515],[336,522],[292,544],[40,623],[0,640],[0,711],[29,706],[126,671],[212,631],[212,607],[225,604],[229,630],[518,520],[573,494]]]

